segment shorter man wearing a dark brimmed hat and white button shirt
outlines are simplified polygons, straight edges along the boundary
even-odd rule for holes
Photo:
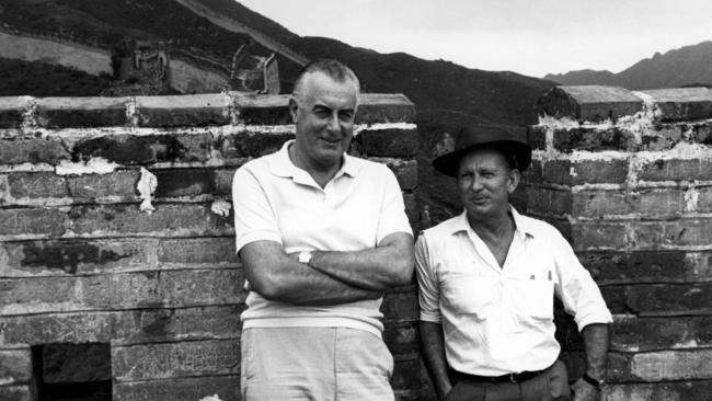
[[[473,126],[433,162],[457,180],[464,207],[415,247],[422,348],[440,399],[600,398],[611,314],[561,233],[509,205],[530,161],[531,148],[507,130]],[[554,296],[586,348],[586,374],[571,388],[558,360]]]

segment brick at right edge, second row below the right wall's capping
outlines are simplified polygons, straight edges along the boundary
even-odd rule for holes
[[[712,159],[657,159],[645,161],[638,173],[641,181],[709,181]]]

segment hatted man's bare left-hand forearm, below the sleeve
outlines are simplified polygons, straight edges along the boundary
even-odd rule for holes
[[[425,367],[430,375],[433,386],[439,399],[443,399],[452,388],[448,376],[448,365],[445,359],[445,339],[443,325],[421,321],[421,351]]]

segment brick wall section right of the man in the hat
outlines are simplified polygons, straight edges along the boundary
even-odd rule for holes
[[[709,400],[712,90],[559,87],[539,110],[528,213],[561,228],[615,313],[606,399]]]

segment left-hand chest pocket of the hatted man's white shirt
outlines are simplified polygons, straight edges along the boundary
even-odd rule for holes
[[[443,307],[456,314],[478,320],[491,317],[499,301],[501,286],[496,279],[481,275],[451,275],[441,284]]]

